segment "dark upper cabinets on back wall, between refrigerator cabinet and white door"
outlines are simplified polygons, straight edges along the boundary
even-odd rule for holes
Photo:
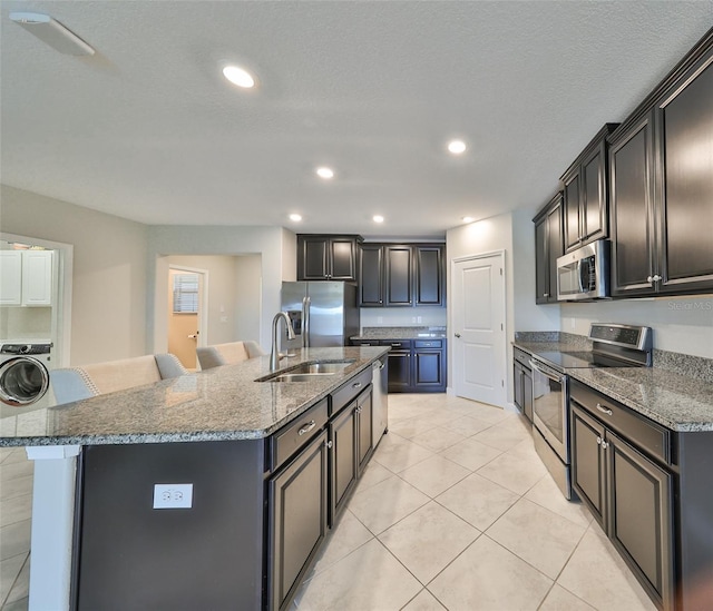
[[[359,305],[445,305],[445,248],[443,244],[362,244]]]

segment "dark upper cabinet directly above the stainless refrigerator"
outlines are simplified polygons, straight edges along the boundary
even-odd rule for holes
[[[360,236],[297,235],[297,280],[356,280]]]

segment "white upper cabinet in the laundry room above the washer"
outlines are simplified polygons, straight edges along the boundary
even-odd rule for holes
[[[0,250],[0,305],[52,305],[52,250]]]

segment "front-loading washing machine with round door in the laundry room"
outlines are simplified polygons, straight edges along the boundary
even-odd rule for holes
[[[0,402],[21,407],[37,403],[49,388],[51,342],[0,345]]]

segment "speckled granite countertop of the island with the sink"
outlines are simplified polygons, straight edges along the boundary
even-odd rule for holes
[[[310,382],[255,382],[270,357],[99,395],[66,405],[3,410],[0,446],[101,445],[263,438],[387,354],[387,347],[304,348],[281,369],[314,361],[353,363]]]

